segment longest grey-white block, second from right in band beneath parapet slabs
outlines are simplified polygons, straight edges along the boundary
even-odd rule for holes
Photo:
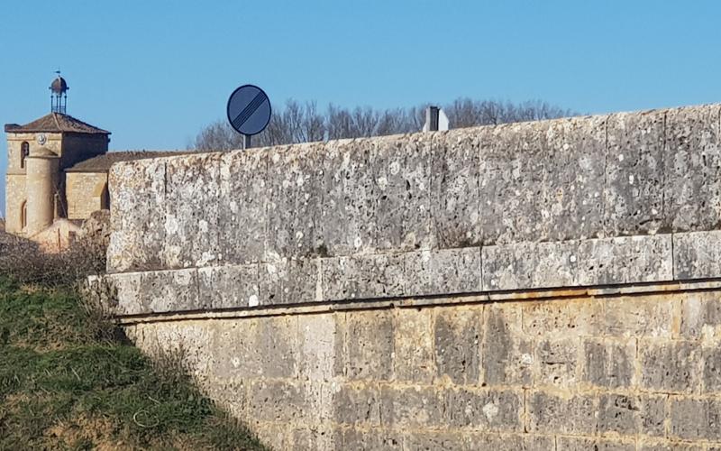
[[[671,281],[671,235],[520,243],[481,249],[483,290]]]

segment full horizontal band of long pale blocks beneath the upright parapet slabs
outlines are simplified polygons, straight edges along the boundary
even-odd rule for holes
[[[117,315],[721,277],[721,232],[472,246],[109,274]]]

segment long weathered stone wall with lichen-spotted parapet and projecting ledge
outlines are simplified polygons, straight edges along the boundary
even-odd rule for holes
[[[698,106],[119,163],[109,306],[280,449],[721,446],[720,130]]]

